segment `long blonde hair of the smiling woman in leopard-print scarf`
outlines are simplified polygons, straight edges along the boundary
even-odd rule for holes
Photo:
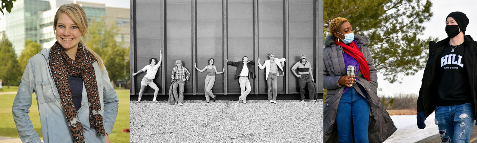
[[[83,38],[86,38],[87,36],[89,36],[88,18],[86,17],[86,12],[84,12],[83,8],[76,3],[65,4],[65,5],[62,5],[60,8],[58,8],[55,14],[55,18],[53,20],[53,32],[55,34],[56,34],[56,25],[58,22],[58,18],[60,17],[60,14],[62,13],[68,14],[73,19],[74,23],[80,30],[81,36]],[[89,51],[91,54],[93,54],[94,58],[96,58],[96,61],[98,61],[100,69],[104,70],[103,59],[101,59],[101,57],[98,54],[96,54],[96,52],[89,49],[82,39],[80,39],[80,43],[83,44],[84,50]]]

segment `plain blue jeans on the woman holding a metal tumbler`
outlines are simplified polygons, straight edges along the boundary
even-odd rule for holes
[[[365,91],[361,89],[361,91]],[[366,93],[363,93],[366,96]],[[336,126],[340,143],[369,143],[369,105],[354,88],[348,89],[340,99],[336,112]],[[354,142],[353,142],[354,136]]]

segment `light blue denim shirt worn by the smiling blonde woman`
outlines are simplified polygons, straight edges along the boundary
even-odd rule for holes
[[[61,105],[60,95],[48,64],[49,51],[50,49],[43,49],[28,60],[17,95],[13,101],[13,119],[23,143],[41,143],[28,115],[33,92],[36,93],[44,143],[73,143],[70,128]],[[105,69],[101,70],[97,61],[93,62],[93,67],[98,83],[101,109],[103,110],[101,113],[104,120],[104,131],[109,135],[116,121],[119,99],[109,80],[108,72]],[[81,124],[86,129],[83,131],[85,142],[105,143],[104,136],[98,136],[96,131],[90,127],[89,105],[84,84],[81,104],[82,106],[77,113]]]

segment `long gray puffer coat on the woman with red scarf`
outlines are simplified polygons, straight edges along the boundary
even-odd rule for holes
[[[342,53],[343,47],[336,46],[332,35],[326,37],[323,49],[323,87],[327,89],[326,100],[323,108],[323,139],[324,143],[337,143],[338,131],[336,127],[336,112],[338,109],[338,103],[340,102],[341,95],[345,86],[338,84],[338,80],[341,76],[346,75],[346,67],[344,67],[344,59]],[[363,74],[358,72],[356,81],[363,86],[364,91],[367,93],[368,103],[370,106],[369,112],[369,128],[368,137],[369,143],[383,143],[389,136],[391,136],[396,130],[393,120],[389,117],[389,113],[381,103],[377,96],[377,75],[374,68],[373,58],[368,46],[369,38],[360,35],[354,35],[354,40],[357,41],[360,51],[363,52],[364,58],[368,61],[369,71],[371,76],[369,81],[364,79]],[[355,88],[359,89],[359,88]],[[358,92],[362,92],[357,90]]]

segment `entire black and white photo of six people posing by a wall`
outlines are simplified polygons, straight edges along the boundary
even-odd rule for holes
[[[131,143],[322,143],[321,11],[131,0]]]

